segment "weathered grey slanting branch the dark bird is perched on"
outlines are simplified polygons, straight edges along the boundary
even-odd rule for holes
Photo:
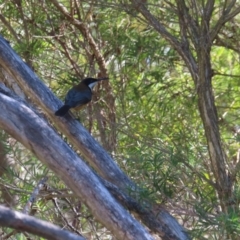
[[[67,115],[64,118],[57,118],[54,115],[54,111],[61,105],[61,102],[51,93],[43,82],[37,78],[32,70],[23,63],[2,37],[0,37],[0,65],[2,65],[4,69],[16,79],[26,95],[33,99],[37,106],[42,108],[48,118],[52,120],[59,129],[61,129],[73,146],[80,150],[80,152],[87,158],[88,162],[94,166],[98,174],[125,192],[127,189],[131,188],[132,191],[136,191],[135,196],[138,196],[135,184],[121,171],[113,159],[99,146],[95,139],[93,139],[78,121],[74,120],[70,115]],[[36,129],[41,131],[38,127]],[[54,151],[56,152],[56,149],[59,148],[62,148],[62,143],[56,145]],[[67,168],[71,165],[72,163],[69,163]],[[63,175],[66,177],[66,174]],[[72,185],[70,187],[72,188]],[[153,217],[156,216],[153,215]],[[169,229],[174,229],[178,226],[179,229],[182,229],[180,231],[181,234],[184,233],[184,229],[167,212],[165,212],[165,214],[159,214],[157,220],[160,224],[167,224]],[[188,239],[188,237],[184,233],[181,239]]]

